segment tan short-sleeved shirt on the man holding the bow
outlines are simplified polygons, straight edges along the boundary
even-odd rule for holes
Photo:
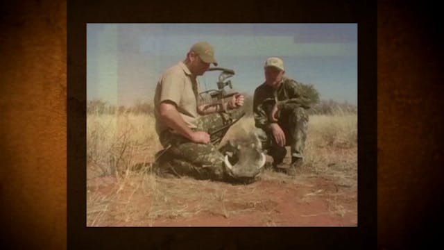
[[[155,129],[157,135],[167,129],[159,119],[159,107],[162,101],[176,103],[176,108],[189,128],[196,128],[198,81],[191,76],[185,63],[167,69],[157,82],[154,96]]]

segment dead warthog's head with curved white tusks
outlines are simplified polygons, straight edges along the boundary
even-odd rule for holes
[[[257,143],[228,141],[220,151],[225,155],[228,174],[238,180],[254,179],[265,165],[265,153]]]

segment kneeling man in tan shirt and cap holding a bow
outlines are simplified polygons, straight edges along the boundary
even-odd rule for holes
[[[223,138],[233,121],[242,117],[244,96],[208,106],[198,103],[198,79],[210,64],[217,65],[207,42],[194,44],[187,57],[167,69],[155,90],[156,132],[165,151],[157,153],[156,171],[178,176],[223,180],[224,156],[210,143]],[[211,136],[210,136],[211,134]],[[161,154],[162,153],[162,154]]]

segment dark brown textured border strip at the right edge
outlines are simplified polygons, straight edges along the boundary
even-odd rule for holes
[[[377,212],[382,249],[443,246],[437,230],[444,197],[441,17],[437,3],[378,4]]]

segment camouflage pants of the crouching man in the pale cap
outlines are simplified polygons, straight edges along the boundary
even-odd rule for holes
[[[308,115],[305,109],[294,105],[282,108],[278,113],[278,124],[285,133],[286,146],[291,147],[291,156],[303,158],[308,127]],[[255,134],[262,142],[262,149],[268,151],[268,155],[278,163],[284,159],[287,151],[276,143],[271,131],[256,128]]]

